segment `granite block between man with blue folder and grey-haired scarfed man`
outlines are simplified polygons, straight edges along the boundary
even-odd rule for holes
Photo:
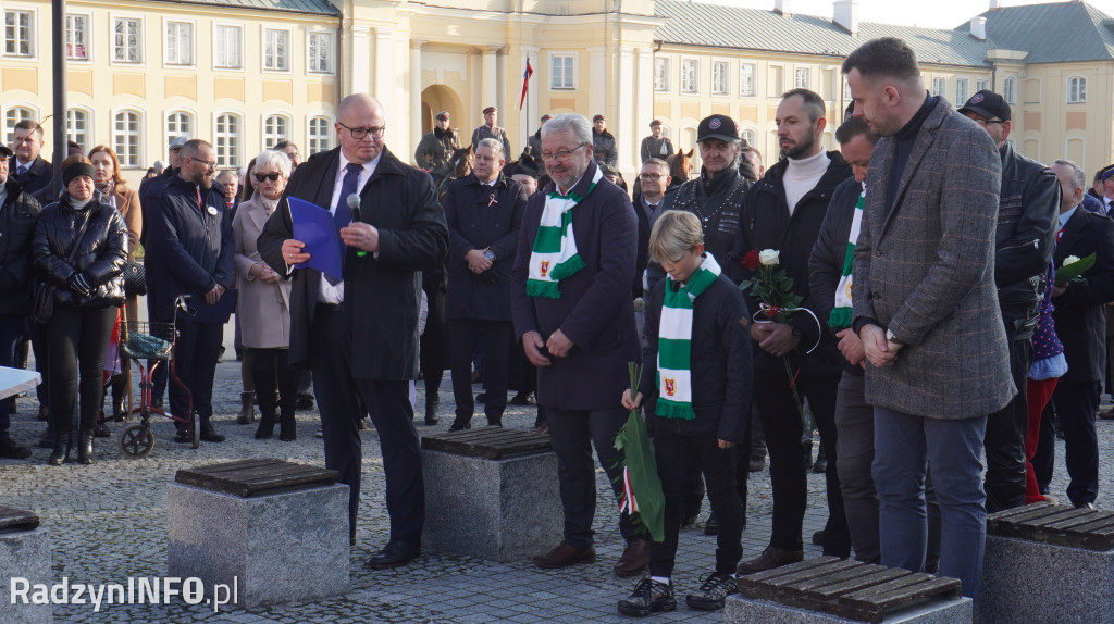
[[[423,449],[422,468],[423,547],[510,562],[560,544],[565,514],[551,452],[485,459]]]

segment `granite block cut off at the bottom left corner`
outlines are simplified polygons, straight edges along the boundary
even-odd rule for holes
[[[49,604],[31,604],[35,585],[49,586],[50,537],[45,528],[31,531],[0,529],[0,624],[40,624],[53,622]],[[12,603],[12,582],[16,595]],[[23,604],[23,583],[29,584],[27,604]]]

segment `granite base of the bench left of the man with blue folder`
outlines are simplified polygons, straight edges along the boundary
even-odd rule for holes
[[[167,573],[235,587],[247,607],[344,594],[348,504],[346,485],[242,498],[170,484]]]

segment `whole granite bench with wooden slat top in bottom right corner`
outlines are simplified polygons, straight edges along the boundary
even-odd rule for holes
[[[1037,503],[987,516],[986,624],[1114,624],[1114,512]]]

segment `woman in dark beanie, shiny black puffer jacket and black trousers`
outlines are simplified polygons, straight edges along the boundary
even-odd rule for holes
[[[31,258],[39,278],[53,290],[47,321],[50,368],[47,393],[60,466],[71,445],[74,393],[81,379],[78,462],[92,464],[92,436],[104,395],[105,351],[117,308],[124,303],[128,230],[118,210],[94,188],[92,165],[84,156],[62,162],[66,191],[42,209],[35,226]]]

